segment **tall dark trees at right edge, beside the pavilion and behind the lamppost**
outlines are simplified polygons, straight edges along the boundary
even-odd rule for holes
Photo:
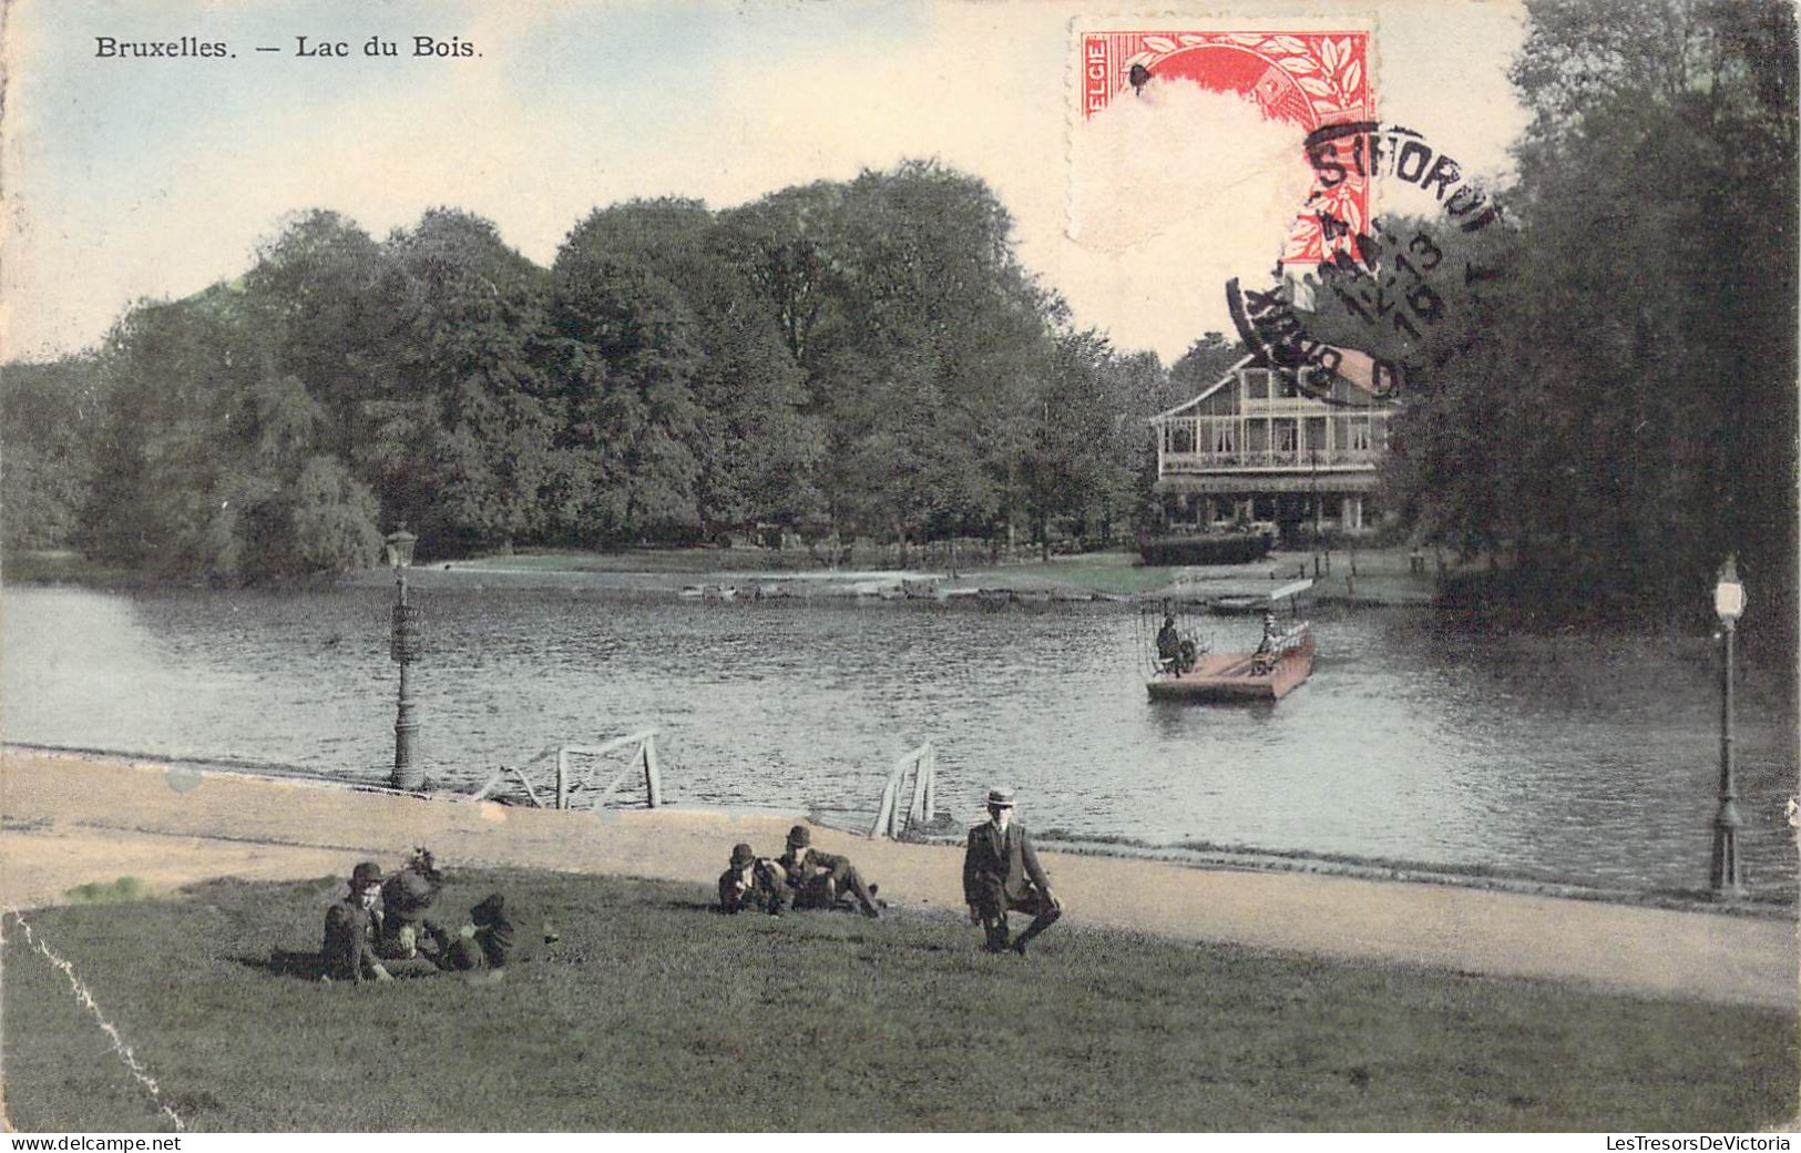
[[[1502,276],[1412,350],[1396,490],[1552,616],[1706,613],[1736,551],[1792,650],[1796,25],[1767,0],[1531,0]]]

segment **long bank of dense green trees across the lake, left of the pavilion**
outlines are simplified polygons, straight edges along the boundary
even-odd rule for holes
[[[1070,331],[1010,231],[924,162],[596,209],[551,268],[456,209],[382,241],[301,213],[240,281],[9,373],[9,542],[256,578],[400,526],[423,555],[1108,531],[1138,499],[1124,398],[1163,375]]]

